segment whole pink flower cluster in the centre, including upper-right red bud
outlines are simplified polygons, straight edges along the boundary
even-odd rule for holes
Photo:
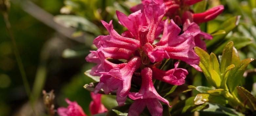
[[[101,21],[109,35],[98,36],[93,42],[98,49],[86,57],[86,61],[97,64],[90,74],[100,76],[95,94],[100,89],[105,94],[116,91],[119,106],[124,105],[127,97],[135,100],[129,116],[139,116],[146,106],[152,116],[161,116],[160,101],[170,105],[157,93],[152,79],[182,85],[188,72],[178,68],[179,62],[175,63],[174,69],[167,71],[159,69],[159,64],[163,59],[177,59],[201,71],[194,47],[206,50],[201,38],[212,39],[212,36],[202,32],[198,23],[214,19],[223,11],[223,6],[203,13],[189,10],[189,5],[199,1],[142,0],[142,4],[131,9],[134,13],[129,16],[116,12],[119,23],[128,29],[121,35],[113,29],[112,21]],[[164,17],[167,18],[163,20]],[[130,92],[135,78],[141,79],[138,93]]]

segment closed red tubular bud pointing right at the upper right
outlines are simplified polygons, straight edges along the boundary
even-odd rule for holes
[[[193,20],[196,23],[204,23],[216,18],[219,14],[223,12],[223,10],[224,6],[220,5],[202,13],[195,13],[193,14]]]

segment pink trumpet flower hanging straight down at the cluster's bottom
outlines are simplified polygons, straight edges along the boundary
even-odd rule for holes
[[[139,116],[146,106],[152,116],[162,116],[163,107],[159,100],[168,106],[169,102],[157,93],[152,82],[152,70],[150,68],[142,69],[141,78],[142,84],[139,93],[129,93],[129,97],[135,102],[130,106],[128,116]]]

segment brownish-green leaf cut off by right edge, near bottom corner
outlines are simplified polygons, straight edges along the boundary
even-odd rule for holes
[[[236,87],[240,98],[243,100],[244,104],[248,105],[251,111],[256,110],[256,98],[247,91],[244,87]]]

